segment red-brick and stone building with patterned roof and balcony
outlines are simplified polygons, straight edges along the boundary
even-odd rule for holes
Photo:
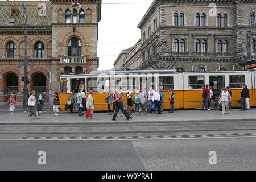
[[[28,90],[59,90],[61,74],[97,71],[101,0],[0,1],[0,97],[23,102],[24,9],[27,11]],[[46,98],[46,102],[47,98]]]

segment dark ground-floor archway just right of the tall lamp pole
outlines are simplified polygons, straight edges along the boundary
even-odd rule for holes
[[[36,96],[39,96],[40,93],[43,96],[46,95],[46,76],[42,73],[36,73],[32,76],[32,83],[32,90],[35,90]]]

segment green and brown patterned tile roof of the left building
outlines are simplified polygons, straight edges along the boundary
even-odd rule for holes
[[[38,16],[38,5],[44,3],[46,5],[46,16]],[[16,5],[19,10],[18,16],[11,16],[11,9]],[[0,27],[1,26],[18,26],[22,25],[23,7],[27,10],[28,26],[46,26],[52,23],[52,5],[50,1],[0,1]],[[14,23],[10,23],[11,19],[15,19]]]

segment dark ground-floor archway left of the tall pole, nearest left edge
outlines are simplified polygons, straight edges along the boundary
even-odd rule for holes
[[[11,94],[14,94],[16,100],[16,95],[19,92],[19,78],[14,73],[7,73],[4,77],[4,91],[9,98]]]

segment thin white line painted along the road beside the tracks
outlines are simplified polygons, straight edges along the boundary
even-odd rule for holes
[[[127,139],[0,139],[0,141],[117,141],[117,140],[187,140],[187,139],[224,139],[224,138],[256,138],[256,136],[236,137],[187,137],[187,138],[127,138]]]

